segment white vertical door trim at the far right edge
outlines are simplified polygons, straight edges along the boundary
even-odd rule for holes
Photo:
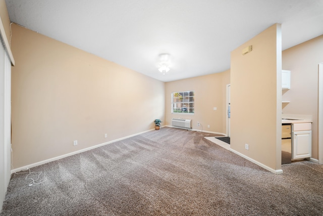
[[[323,164],[323,62],[318,64],[318,163]]]

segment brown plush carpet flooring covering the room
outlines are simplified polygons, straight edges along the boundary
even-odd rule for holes
[[[206,136],[163,127],[34,167],[36,186],[13,174],[1,215],[323,214],[322,165],[275,175]]]

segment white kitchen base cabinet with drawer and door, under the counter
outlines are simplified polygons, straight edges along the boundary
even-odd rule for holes
[[[312,156],[311,123],[295,123],[292,125],[292,160]]]

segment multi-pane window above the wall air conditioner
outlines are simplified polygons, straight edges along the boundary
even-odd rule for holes
[[[194,113],[194,91],[172,93],[172,113]]]

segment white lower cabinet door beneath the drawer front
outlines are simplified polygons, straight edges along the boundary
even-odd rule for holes
[[[312,156],[312,131],[293,132],[292,160]]]

